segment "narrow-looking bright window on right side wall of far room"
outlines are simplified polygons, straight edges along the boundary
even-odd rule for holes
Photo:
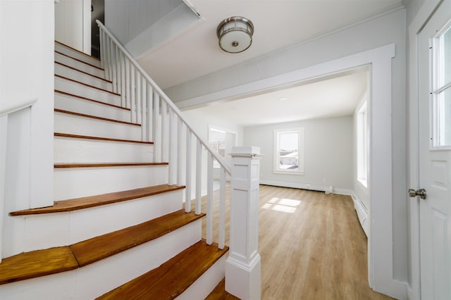
[[[357,180],[367,187],[368,177],[368,125],[366,101],[357,113]]]

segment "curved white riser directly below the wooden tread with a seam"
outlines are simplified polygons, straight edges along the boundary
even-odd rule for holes
[[[200,240],[201,220],[77,270],[0,285],[2,299],[94,299],[152,270]],[[56,286],[55,286],[56,285]]]

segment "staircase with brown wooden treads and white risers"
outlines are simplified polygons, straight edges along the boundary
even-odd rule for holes
[[[142,129],[153,121],[108,77],[56,42],[55,202],[10,212],[24,252],[1,261],[0,299],[205,299],[223,280],[228,247],[202,239],[204,213],[183,209]]]

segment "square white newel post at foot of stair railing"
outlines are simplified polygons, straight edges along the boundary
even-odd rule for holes
[[[259,254],[258,147],[233,147],[230,198],[230,249],[226,291],[242,300],[261,297]]]

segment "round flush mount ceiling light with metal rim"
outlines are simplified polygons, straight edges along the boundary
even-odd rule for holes
[[[216,29],[219,46],[228,53],[240,53],[252,44],[254,24],[243,17],[230,17],[219,23]]]

